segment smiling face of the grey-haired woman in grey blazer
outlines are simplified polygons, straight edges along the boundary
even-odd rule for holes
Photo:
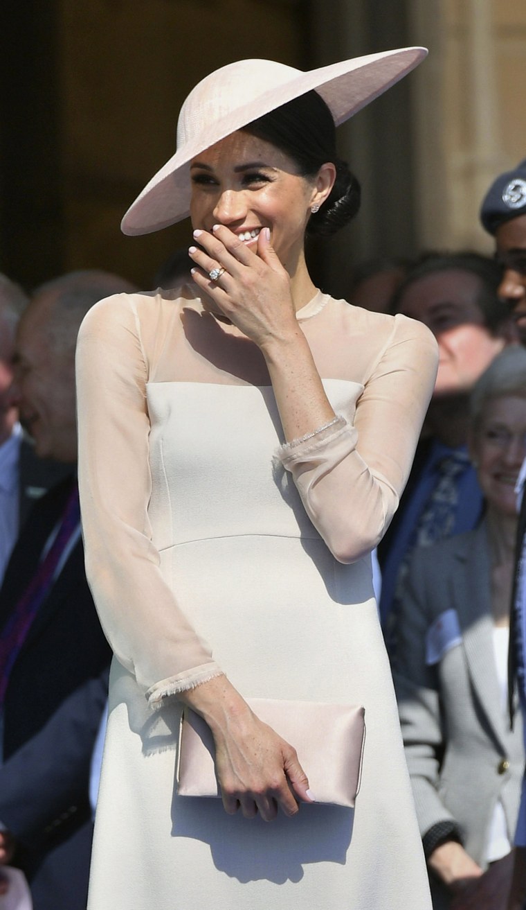
[[[488,399],[472,434],[470,450],[489,507],[515,516],[514,488],[526,456],[526,397],[500,395]]]

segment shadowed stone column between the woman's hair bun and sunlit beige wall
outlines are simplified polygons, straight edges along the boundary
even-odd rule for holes
[[[313,0],[311,34],[315,66],[418,43],[407,0]],[[408,256],[418,246],[412,99],[421,68],[338,130],[339,151],[362,184],[362,208],[350,227],[317,249],[322,281],[337,296],[347,293],[352,263]]]

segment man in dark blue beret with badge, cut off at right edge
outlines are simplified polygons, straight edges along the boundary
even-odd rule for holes
[[[494,181],[482,201],[482,226],[495,238],[503,276],[499,294],[511,308],[526,345],[526,159]],[[510,622],[510,712],[517,680],[521,710],[526,716],[526,461],[517,483],[521,511],[517,539]],[[526,731],[526,725],[525,725]],[[526,779],[515,837],[515,867],[509,910],[526,907]]]

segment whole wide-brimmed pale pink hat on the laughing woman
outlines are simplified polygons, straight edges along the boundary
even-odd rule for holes
[[[124,234],[149,234],[189,214],[190,162],[224,136],[315,89],[336,126],[417,66],[424,47],[355,57],[303,73],[273,60],[240,60],[206,76],[186,98],[177,122],[177,151],[128,208]]]

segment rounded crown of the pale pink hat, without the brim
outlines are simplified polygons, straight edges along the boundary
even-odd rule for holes
[[[238,60],[205,76],[190,92],[177,121],[177,148],[191,143],[254,98],[284,83],[302,71],[273,60]]]

